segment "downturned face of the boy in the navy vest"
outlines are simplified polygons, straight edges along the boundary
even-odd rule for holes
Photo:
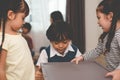
[[[70,43],[70,40],[64,40],[64,41],[59,41],[59,42],[51,41],[53,48],[60,54],[64,54],[69,43]]]

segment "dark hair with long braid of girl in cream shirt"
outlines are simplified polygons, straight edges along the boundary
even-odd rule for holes
[[[23,12],[26,16],[29,14],[29,7],[24,0],[0,0],[0,28],[2,29],[0,53],[5,38],[5,24],[9,10],[12,10],[14,13]]]

